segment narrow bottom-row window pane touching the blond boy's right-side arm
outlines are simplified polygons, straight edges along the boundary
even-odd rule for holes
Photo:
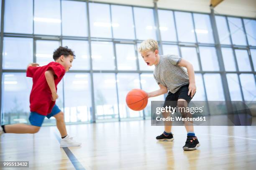
[[[197,92],[195,93],[195,96],[192,98],[193,101],[205,101],[205,89],[204,89],[204,83],[202,80],[202,74],[195,74],[195,82],[197,86]]]

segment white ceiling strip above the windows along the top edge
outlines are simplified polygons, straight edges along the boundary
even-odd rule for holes
[[[153,0],[90,0],[125,5],[153,7]],[[159,8],[210,13],[210,0],[158,0]],[[216,14],[256,18],[256,0],[224,0],[215,7]]]

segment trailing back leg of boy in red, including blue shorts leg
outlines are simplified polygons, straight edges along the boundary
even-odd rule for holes
[[[18,123],[13,125],[3,125],[2,127],[5,133],[37,133],[44,122],[44,117],[44,115],[40,115],[36,112],[31,112],[29,116],[29,121],[31,125]]]

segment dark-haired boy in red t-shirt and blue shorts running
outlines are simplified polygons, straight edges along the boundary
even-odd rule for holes
[[[61,81],[65,72],[72,67],[74,52],[68,47],[59,47],[54,51],[55,62],[38,67],[36,63],[31,63],[27,67],[27,77],[33,78],[33,87],[30,94],[30,116],[31,125],[23,123],[13,125],[1,125],[2,133],[37,133],[41,128],[44,118],[56,118],[56,125],[61,134],[60,147],[79,146],[81,143],[74,141],[67,135],[64,121],[64,113],[55,104],[57,95],[57,85]]]

